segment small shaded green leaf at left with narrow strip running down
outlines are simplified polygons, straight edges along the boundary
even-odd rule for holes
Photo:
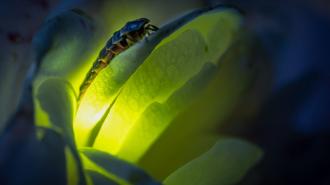
[[[68,184],[84,184],[84,174],[74,142],[72,122],[76,100],[72,86],[60,78],[48,78],[37,89],[35,101],[36,125],[61,133],[65,148]],[[80,180],[79,180],[80,179]]]

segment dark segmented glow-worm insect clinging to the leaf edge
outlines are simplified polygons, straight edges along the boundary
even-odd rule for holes
[[[128,49],[138,41],[158,30],[158,27],[149,24],[150,20],[146,18],[136,19],[127,22],[124,27],[116,31],[107,41],[105,47],[99,53],[93,66],[88,71],[83,83],[80,86],[78,101],[85,94],[88,87],[96,78],[98,73],[107,67],[111,60]]]

